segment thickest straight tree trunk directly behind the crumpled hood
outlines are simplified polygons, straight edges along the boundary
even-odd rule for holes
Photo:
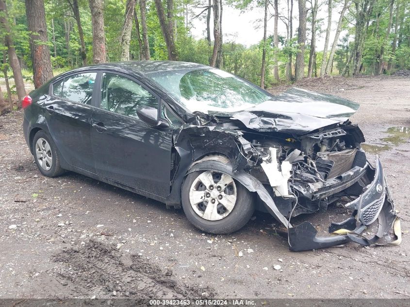
[[[295,61],[295,80],[302,80],[305,76],[305,42],[306,42],[306,0],[299,0],[299,27],[297,29],[297,44]]]

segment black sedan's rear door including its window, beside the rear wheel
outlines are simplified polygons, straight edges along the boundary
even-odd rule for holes
[[[55,81],[44,104],[49,132],[61,155],[90,172],[95,172],[90,131],[97,74],[82,72]]]

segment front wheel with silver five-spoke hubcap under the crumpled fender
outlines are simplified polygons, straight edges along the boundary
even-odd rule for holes
[[[255,211],[253,194],[230,175],[217,171],[189,174],[182,184],[181,202],[194,226],[215,234],[239,230]]]

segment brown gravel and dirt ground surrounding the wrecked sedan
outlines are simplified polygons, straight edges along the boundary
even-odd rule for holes
[[[400,246],[290,252],[262,214],[231,235],[201,233],[182,211],[137,194],[74,173],[41,176],[15,112],[0,117],[0,298],[408,298],[410,143],[386,131],[410,127],[410,78],[297,86],[361,103],[352,121],[384,165],[402,221]],[[314,225],[324,233],[329,219],[346,214],[330,208]]]

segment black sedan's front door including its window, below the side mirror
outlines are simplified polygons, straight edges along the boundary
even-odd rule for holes
[[[136,189],[169,194],[172,128],[151,127],[138,106],[160,110],[160,98],[130,76],[104,72],[99,108],[92,114],[91,142],[96,173]]]

